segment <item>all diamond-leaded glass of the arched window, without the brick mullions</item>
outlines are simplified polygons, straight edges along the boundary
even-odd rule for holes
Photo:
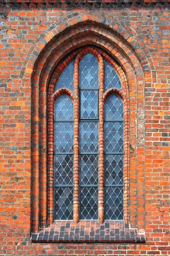
[[[76,63],[76,62],[75,62]],[[79,220],[98,220],[99,198],[99,61],[87,53],[79,62]],[[114,68],[104,60],[105,91],[122,90]],[[55,90],[74,94],[74,61],[63,70]],[[116,94],[104,109],[104,219],[123,219],[124,107]],[[100,119],[101,120],[101,119]],[[101,121],[100,121],[101,122]],[[101,126],[100,126],[101,127]],[[74,102],[65,94],[54,104],[54,220],[73,220],[74,202]]]

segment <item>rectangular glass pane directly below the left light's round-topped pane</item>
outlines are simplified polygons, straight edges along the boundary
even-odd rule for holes
[[[73,122],[54,122],[54,153],[73,152]]]

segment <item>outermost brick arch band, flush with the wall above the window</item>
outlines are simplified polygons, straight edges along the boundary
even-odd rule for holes
[[[23,62],[23,68],[21,70],[20,77],[23,77],[24,74],[28,77],[30,76],[29,74],[31,74],[34,70],[35,52],[37,55],[36,57],[38,57],[38,55],[47,48],[51,40],[58,36],[60,33],[70,27],[76,26],[77,24],[80,25],[82,23],[85,24],[89,22],[96,24],[96,26],[98,24],[100,26],[105,25],[107,28],[116,32],[117,35],[119,35],[121,38],[124,38],[128,42],[128,44],[134,49],[136,56],[138,56],[143,63],[144,70],[148,69],[147,66],[150,66],[150,70],[155,71],[153,60],[150,57],[147,48],[140,40],[136,32],[134,32],[131,28],[127,27],[126,23],[122,23],[122,21],[118,20],[115,17],[112,17],[111,15],[103,15],[103,12],[101,11],[97,11],[97,14],[94,10],[82,10],[78,13],[79,15],[77,15],[76,12],[73,13],[71,16],[70,14],[68,14],[66,17],[63,17],[52,23],[51,26],[49,26],[49,28],[46,29],[46,31],[34,41],[34,44],[28,50],[28,53]],[[33,49],[35,50],[34,53]]]

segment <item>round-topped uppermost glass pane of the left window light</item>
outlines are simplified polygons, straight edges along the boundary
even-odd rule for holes
[[[57,98],[54,105],[54,121],[74,120],[73,101],[66,95],[62,94]]]

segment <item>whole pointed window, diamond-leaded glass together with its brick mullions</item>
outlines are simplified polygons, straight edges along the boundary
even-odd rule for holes
[[[92,47],[60,74],[48,127],[54,220],[123,220],[123,95],[115,69]]]

